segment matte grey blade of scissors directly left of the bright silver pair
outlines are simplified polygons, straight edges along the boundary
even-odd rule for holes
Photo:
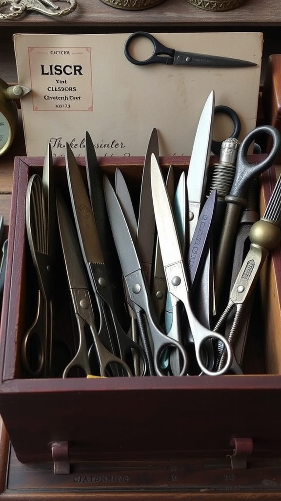
[[[103,190],[120,265],[123,275],[127,276],[132,272],[140,270],[140,263],[116,193],[106,176],[103,177]]]

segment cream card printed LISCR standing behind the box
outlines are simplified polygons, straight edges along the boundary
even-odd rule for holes
[[[240,138],[256,125],[261,33],[157,33],[166,47],[247,60],[245,68],[137,66],[124,55],[129,34],[14,35],[18,82],[31,89],[22,100],[26,153],[53,155],[68,142],[84,156],[88,131],[98,156],[143,156],[152,129],[160,155],[189,155],[204,102],[234,109]],[[142,42],[140,42],[142,44]],[[147,51],[147,40],[137,56]],[[232,132],[227,119],[214,120],[214,139]]]

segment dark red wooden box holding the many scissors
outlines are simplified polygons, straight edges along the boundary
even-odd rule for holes
[[[179,171],[187,168],[188,160],[162,158],[161,165],[167,168],[172,163]],[[77,161],[83,169],[84,159]],[[136,190],[143,158],[99,161],[108,173],[113,173],[116,165],[120,167],[132,190]],[[147,457],[161,461],[167,456],[224,461],[233,456],[233,449],[238,457],[259,461],[268,457],[273,461],[281,456],[279,248],[262,270],[262,315],[256,307],[247,374],[107,379],[22,377],[19,350],[27,327],[25,311],[30,286],[25,266],[24,200],[28,178],[41,172],[42,162],[42,158],[18,157],[14,165],[0,331],[0,414],[16,460],[38,464],[50,461],[59,468],[63,463],[57,459],[60,454],[66,463],[69,460],[71,468],[71,464],[82,461],[108,464]],[[57,183],[65,186],[63,157],[54,158],[54,168]],[[274,169],[262,175],[261,210],[274,182]],[[261,345],[266,369],[259,363]]]

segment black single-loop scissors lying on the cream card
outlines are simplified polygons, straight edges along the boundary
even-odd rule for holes
[[[148,59],[138,60],[131,56],[129,49],[130,44],[137,38],[145,38],[152,42],[153,51]],[[203,68],[242,68],[246,66],[256,66],[255,63],[251,63],[250,61],[243,61],[241,59],[176,51],[175,49],[165,47],[155,37],[153,37],[153,35],[146,32],[136,32],[130,35],[125,41],[124,54],[130,63],[138,66],[152,63],[161,63],[175,66],[197,66]]]

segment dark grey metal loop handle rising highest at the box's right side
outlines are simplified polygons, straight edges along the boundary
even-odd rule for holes
[[[246,156],[249,146],[256,137],[264,134],[268,134],[272,138],[272,147],[268,153],[268,156],[264,160],[261,160],[258,163],[255,164],[248,163],[246,160]],[[271,165],[273,165],[274,160],[278,154],[279,147],[280,147],[280,134],[278,130],[275,129],[275,127],[272,127],[270,125],[261,125],[260,127],[256,127],[255,129],[250,131],[244,137],[238,149],[235,176],[233,179],[230,193],[225,197],[225,200],[228,201],[228,197],[230,197],[229,201],[231,201],[231,197],[233,196],[246,199],[249,181],[253,177],[256,177],[257,175],[264,172],[264,170],[271,167]]]

